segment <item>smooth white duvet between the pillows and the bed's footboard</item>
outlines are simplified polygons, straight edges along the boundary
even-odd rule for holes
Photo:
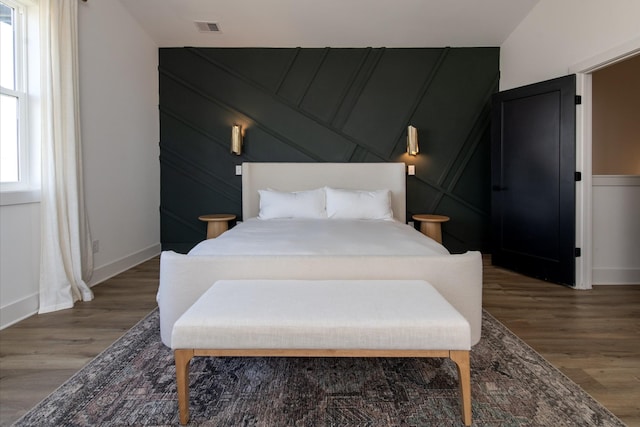
[[[249,219],[189,255],[448,255],[414,228],[389,220]]]

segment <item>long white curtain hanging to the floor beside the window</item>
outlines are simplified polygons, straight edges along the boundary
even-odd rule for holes
[[[78,0],[40,0],[42,250],[40,313],[89,301],[91,235],[82,183]]]

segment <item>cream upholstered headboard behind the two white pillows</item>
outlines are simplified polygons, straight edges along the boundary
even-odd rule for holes
[[[406,222],[404,163],[243,163],[242,216],[258,216],[258,190],[313,190],[320,187],[347,190],[391,190],[393,216]]]

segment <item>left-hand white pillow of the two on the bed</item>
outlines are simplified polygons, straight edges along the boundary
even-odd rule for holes
[[[259,219],[326,218],[324,188],[286,193],[258,190],[260,195]]]

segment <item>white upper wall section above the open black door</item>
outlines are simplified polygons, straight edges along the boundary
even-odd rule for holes
[[[500,90],[569,74],[640,37],[638,0],[540,0],[500,46]]]

